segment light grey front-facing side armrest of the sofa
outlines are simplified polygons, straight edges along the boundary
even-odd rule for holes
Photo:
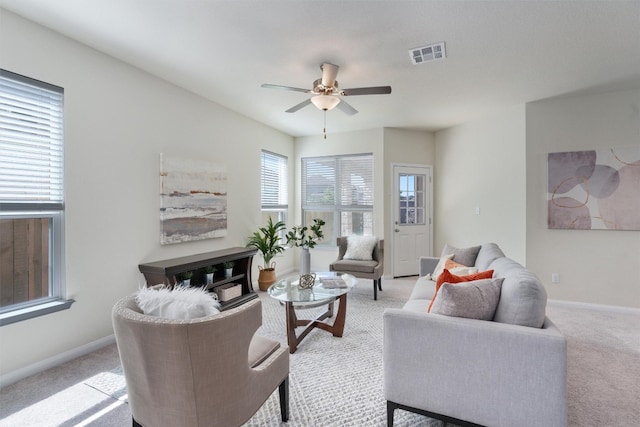
[[[387,309],[385,399],[491,426],[566,426],[566,340],[543,328]]]

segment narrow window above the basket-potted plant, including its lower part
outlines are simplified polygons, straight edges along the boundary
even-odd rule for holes
[[[286,222],[289,210],[287,158],[263,150],[261,175],[262,224],[267,224],[269,217],[274,222]],[[284,231],[280,237],[284,239]]]

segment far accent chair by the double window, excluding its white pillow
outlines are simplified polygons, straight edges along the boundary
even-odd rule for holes
[[[379,239],[374,246],[371,260],[345,259],[348,236],[338,237],[338,258],[329,264],[329,270],[348,273],[361,279],[373,280],[373,299],[378,299],[378,290],[382,290],[382,273],[384,271],[384,239]]]

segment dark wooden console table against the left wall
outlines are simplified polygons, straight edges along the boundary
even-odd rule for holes
[[[220,303],[221,310],[228,310],[258,298],[251,283],[251,265],[253,256],[256,253],[257,250],[255,249],[229,248],[180,258],[147,262],[138,265],[138,269],[144,275],[147,286],[163,283],[173,287],[178,283],[176,276],[187,271],[193,272],[191,286],[206,286],[207,290],[210,291],[214,291],[217,286],[227,283],[238,283],[242,286],[242,294],[232,300]],[[233,261],[235,264],[231,277],[225,277],[224,275],[222,264],[227,261]],[[205,267],[208,266],[214,266],[217,269],[213,276],[213,283],[210,284],[207,284],[205,274]]]

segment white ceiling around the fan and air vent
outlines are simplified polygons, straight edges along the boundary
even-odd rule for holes
[[[293,136],[320,134],[307,94],[319,65],[346,100],[328,132],[438,130],[492,110],[576,91],[640,88],[640,1],[0,0],[49,27]],[[408,50],[446,42],[447,58]],[[1,64],[0,64],[1,65]]]

